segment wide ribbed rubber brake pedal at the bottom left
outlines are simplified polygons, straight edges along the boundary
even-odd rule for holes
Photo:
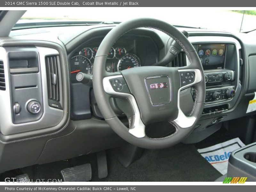
[[[90,181],[92,179],[91,164],[87,163],[63,169],[61,175],[63,180],[67,182]]]

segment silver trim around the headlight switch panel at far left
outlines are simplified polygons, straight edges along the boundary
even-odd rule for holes
[[[52,108],[48,105],[48,93],[46,82],[46,69],[45,69],[45,56],[59,55],[59,52],[52,48],[36,47],[39,52],[40,70],[42,76],[42,91],[43,91],[43,103],[44,113],[42,117],[34,122],[13,124],[12,123],[12,104],[10,98],[9,87],[9,73],[8,73],[8,58],[4,47],[0,47],[0,60],[4,62],[4,75],[6,90],[0,90],[0,131],[4,135],[11,135],[15,133],[34,131],[38,129],[44,129],[52,127],[60,123],[63,117],[63,110]],[[29,99],[29,98],[28,98]]]

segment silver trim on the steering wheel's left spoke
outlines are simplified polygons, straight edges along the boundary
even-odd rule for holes
[[[103,78],[104,91],[110,95],[127,98],[130,101],[132,110],[134,112],[134,123],[130,125],[129,133],[131,133],[134,137],[143,138],[145,137],[145,125],[143,124],[140,118],[140,110],[138,108],[135,98],[133,97],[132,94],[129,94],[129,93],[116,92],[112,88],[109,82],[110,79],[119,78],[119,77],[123,77],[123,76],[117,75],[117,76],[104,77]]]

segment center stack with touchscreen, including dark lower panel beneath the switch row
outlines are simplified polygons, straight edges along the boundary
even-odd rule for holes
[[[240,66],[241,44],[230,36],[193,36],[193,44],[204,69],[205,104],[195,130],[182,143],[196,143],[218,131],[220,122],[230,118],[242,90]],[[187,63],[189,61],[187,60]],[[189,91],[188,91],[189,92]],[[196,90],[191,89],[195,101]]]

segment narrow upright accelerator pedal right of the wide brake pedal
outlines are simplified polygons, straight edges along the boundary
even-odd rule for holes
[[[99,179],[108,176],[107,156],[105,151],[96,153],[98,163],[98,177]]]

